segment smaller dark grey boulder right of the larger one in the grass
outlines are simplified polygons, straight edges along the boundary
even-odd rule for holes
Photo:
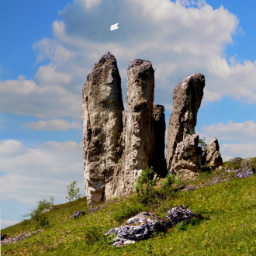
[[[175,206],[168,211],[166,217],[171,222],[171,225],[176,225],[179,222],[191,220],[194,216],[195,213],[187,206]]]

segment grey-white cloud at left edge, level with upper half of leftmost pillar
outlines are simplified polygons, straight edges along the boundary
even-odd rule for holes
[[[81,115],[81,96],[60,85],[40,87],[19,76],[0,81],[0,112],[12,112],[38,118],[77,118]]]

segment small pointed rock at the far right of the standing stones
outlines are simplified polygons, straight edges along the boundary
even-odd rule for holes
[[[209,164],[211,168],[218,168],[223,164],[217,138],[213,138],[206,146],[206,164]]]

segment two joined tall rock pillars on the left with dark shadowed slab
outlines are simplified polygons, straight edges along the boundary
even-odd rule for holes
[[[132,60],[123,111],[116,58],[107,52],[94,65],[82,91],[84,177],[88,205],[127,195],[142,170],[166,175],[164,106],[153,105],[154,69]]]

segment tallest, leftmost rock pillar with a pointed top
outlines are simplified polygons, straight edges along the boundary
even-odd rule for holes
[[[122,156],[121,78],[116,58],[107,52],[94,65],[82,90],[84,178],[90,205],[105,201],[112,191],[116,164]]]

